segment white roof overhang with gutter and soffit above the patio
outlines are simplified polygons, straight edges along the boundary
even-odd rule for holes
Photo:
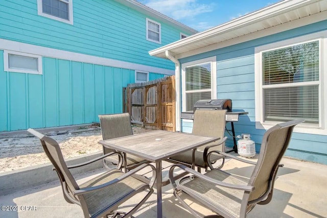
[[[149,51],[151,56],[177,59],[250,41],[327,19],[327,0],[285,0],[212,29]]]

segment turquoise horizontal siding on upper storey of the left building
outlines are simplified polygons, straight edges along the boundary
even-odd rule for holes
[[[36,0],[0,1],[0,38],[174,69],[171,61],[151,57],[148,51],[179,40],[180,30],[160,22],[157,44],[146,40],[147,16],[118,2],[75,0],[73,11],[71,25],[37,15]]]

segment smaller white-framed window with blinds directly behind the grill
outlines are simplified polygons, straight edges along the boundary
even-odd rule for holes
[[[193,105],[202,99],[215,99],[216,58],[182,64],[182,111],[193,111]]]

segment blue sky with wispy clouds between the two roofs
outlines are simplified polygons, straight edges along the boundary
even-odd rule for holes
[[[137,0],[201,32],[281,0]]]

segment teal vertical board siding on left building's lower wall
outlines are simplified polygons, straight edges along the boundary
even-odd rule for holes
[[[122,90],[134,83],[134,70],[44,57],[42,61],[43,75],[4,72],[0,67],[0,131],[99,122],[99,114],[122,113]]]

